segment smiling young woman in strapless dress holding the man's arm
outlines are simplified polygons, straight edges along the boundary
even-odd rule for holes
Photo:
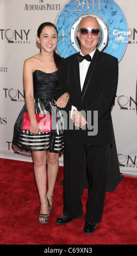
[[[64,148],[62,124],[58,121],[61,120],[61,112],[54,105],[54,89],[58,84],[61,57],[55,52],[58,33],[52,23],[42,23],[36,38],[40,44],[40,53],[24,62],[23,84],[26,103],[14,125],[12,148],[18,153],[24,150],[32,151],[35,180],[41,203],[39,222],[45,224],[52,210],[53,190],[58,174],[58,157]],[[67,97],[62,96],[63,101],[67,103]],[[56,121],[55,129],[51,132],[43,132],[36,121],[35,113],[52,114],[53,106],[58,116],[56,120],[52,120]],[[29,131],[22,130],[24,112],[29,114]],[[46,188],[47,181],[48,188]]]

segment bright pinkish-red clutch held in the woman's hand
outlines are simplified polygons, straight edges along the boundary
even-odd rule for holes
[[[50,132],[52,126],[52,115],[49,114],[35,114],[37,123],[42,127],[43,132]],[[30,129],[30,120],[27,112],[24,113],[23,130]]]

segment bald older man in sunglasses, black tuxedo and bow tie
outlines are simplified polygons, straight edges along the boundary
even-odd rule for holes
[[[87,171],[89,190],[83,232],[91,234],[101,222],[104,208],[118,61],[98,51],[99,23],[95,17],[85,16],[80,21],[77,36],[80,53],[61,63],[55,92],[57,99],[65,94],[59,97],[57,106],[73,122],[71,127],[67,120],[64,130],[64,209],[56,223],[67,224],[83,216],[82,191]],[[64,99],[68,100],[65,108]]]

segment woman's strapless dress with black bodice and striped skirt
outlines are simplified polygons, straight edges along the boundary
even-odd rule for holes
[[[23,114],[27,112],[24,104],[14,125],[12,148],[15,153],[25,154],[32,151],[44,151],[60,153],[64,148],[63,140],[63,117],[58,107],[54,105],[54,90],[58,84],[57,71],[47,74],[40,70],[33,73],[34,106],[35,113],[52,114],[51,132],[42,132],[36,135],[22,130]]]

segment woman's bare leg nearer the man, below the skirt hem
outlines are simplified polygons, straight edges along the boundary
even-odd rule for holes
[[[49,205],[52,205],[52,196],[57,179],[59,169],[59,153],[51,153],[47,151],[47,179],[48,179],[48,191],[47,197]]]

